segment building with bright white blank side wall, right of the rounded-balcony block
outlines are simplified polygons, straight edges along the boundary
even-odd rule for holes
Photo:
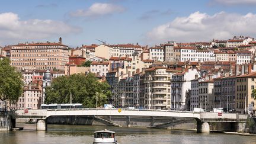
[[[191,80],[195,76],[200,77],[200,73],[196,69],[185,69],[185,72],[175,73],[171,78],[171,109],[184,110],[185,92],[191,88]]]

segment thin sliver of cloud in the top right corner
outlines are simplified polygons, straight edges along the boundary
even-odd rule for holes
[[[212,3],[223,5],[256,5],[255,0],[212,0]]]

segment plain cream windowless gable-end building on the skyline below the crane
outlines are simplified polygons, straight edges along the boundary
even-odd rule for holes
[[[95,47],[95,56],[110,59],[110,57],[113,56],[113,47],[107,46],[105,44],[100,44],[99,46]]]

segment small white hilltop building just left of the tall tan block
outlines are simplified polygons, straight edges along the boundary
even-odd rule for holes
[[[162,47],[151,47],[149,48],[150,59],[164,62],[164,48]]]

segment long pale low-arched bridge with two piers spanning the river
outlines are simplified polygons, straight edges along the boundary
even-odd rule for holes
[[[14,118],[37,119],[37,130],[47,130],[46,119],[51,116],[133,116],[133,117],[183,117],[193,118],[197,121],[197,132],[209,133],[209,122],[228,122],[238,124],[247,121],[246,114],[234,113],[195,113],[193,111],[170,111],[170,110],[127,110],[127,109],[55,109],[55,110],[17,110]]]

